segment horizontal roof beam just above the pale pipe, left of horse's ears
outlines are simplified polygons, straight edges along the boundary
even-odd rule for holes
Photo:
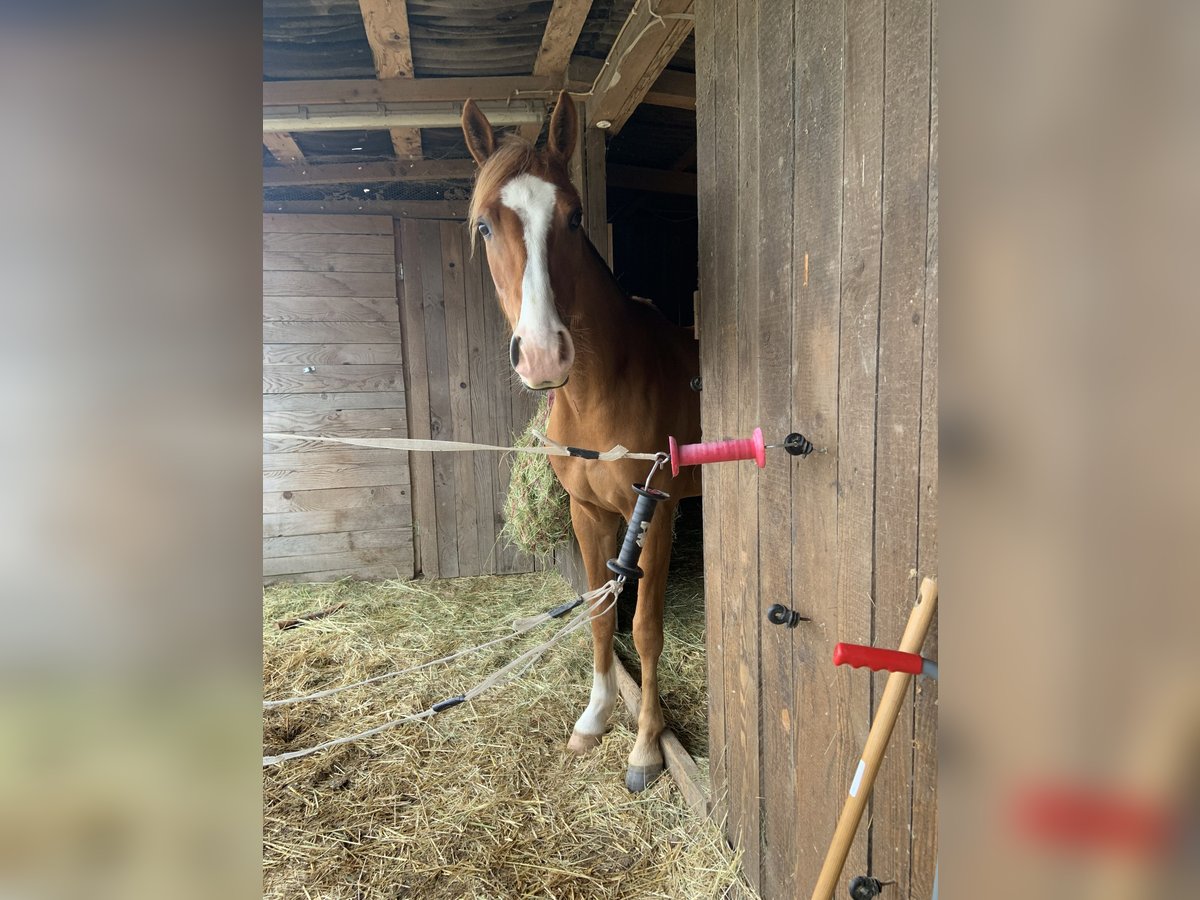
[[[509,100],[518,94],[552,94],[560,79],[542,76],[485,76],[469,78],[353,78],[264,82],[264,107],[302,107],[340,103],[462,102]],[[587,90],[587,88],[583,88]]]

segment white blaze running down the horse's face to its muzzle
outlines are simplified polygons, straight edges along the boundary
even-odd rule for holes
[[[500,203],[517,214],[524,228],[521,314],[512,332],[521,338],[521,352],[529,355],[526,366],[539,374],[559,364],[566,331],[554,307],[546,256],[556,193],[552,184],[528,173],[517,175],[500,188]]]

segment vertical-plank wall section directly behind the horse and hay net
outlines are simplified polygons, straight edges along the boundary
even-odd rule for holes
[[[509,365],[509,328],[482,247],[461,221],[396,226],[413,437],[509,445],[538,403]],[[527,572],[540,562],[499,536],[511,460],[413,454],[418,569],[427,577]]]

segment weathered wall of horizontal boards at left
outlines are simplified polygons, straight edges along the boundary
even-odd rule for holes
[[[404,437],[390,216],[263,216],[263,431]],[[408,461],[263,439],[263,577],[413,576]]]

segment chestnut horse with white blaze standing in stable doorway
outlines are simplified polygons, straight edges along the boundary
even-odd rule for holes
[[[581,228],[580,194],[568,175],[578,138],[575,103],[564,91],[550,122],[545,150],[520,138],[497,143],[474,102],[462,110],[462,130],[479,173],[470,202],[470,227],[484,238],[487,263],[504,316],[512,329],[509,355],[522,384],[554,390],[547,437],[560,444],[607,450],[665,451],[667,436],[700,439],[700,401],[690,389],[700,372],[691,331],[677,328],[653,306],[628,298]],[[474,236],[474,235],[473,235]],[[637,499],[634,482],[648,463],[551,457],[571,498],[590,588],[612,576],[605,563],[617,556],[620,520]],[[671,562],[672,524],[683,497],[700,494],[700,473],[670,470],[654,487],[661,503],[642,546],[646,572],[638,587],[634,641],[642,662],[642,710],[637,742],[629,755],[625,785],[641,791],[662,772],[662,708],[658,665],[662,650],[662,595]],[[594,749],[607,731],[617,702],[612,636],[617,613],[592,623],[592,698],[566,746]]]

